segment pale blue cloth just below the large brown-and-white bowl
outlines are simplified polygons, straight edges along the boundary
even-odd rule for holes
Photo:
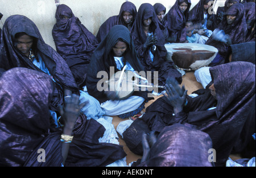
[[[209,82],[212,81],[212,77],[210,76],[210,67],[202,67],[200,69],[197,69],[194,73],[196,77],[196,81],[200,82],[202,86],[205,87],[209,84]]]

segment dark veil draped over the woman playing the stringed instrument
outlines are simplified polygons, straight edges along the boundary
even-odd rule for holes
[[[87,72],[86,86],[88,92],[100,102],[106,101],[108,98],[106,98],[104,91],[99,92],[97,90],[97,83],[101,79],[97,78],[97,73],[105,71],[108,73],[108,77],[110,78],[110,67],[115,68],[114,72],[119,71],[115,64],[112,52],[112,49],[118,40],[122,40],[127,44],[126,52],[123,54],[124,62],[126,63],[127,61],[135,71],[143,71],[133,40],[131,39],[130,31],[122,25],[113,26],[106,38],[101,41],[94,51]]]

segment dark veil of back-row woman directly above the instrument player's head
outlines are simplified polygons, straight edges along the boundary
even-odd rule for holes
[[[105,38],[105,36],[108,34],[110,29],[117,24],[122,24],[123,26],[126,26],[128,28],[127,24],[123,21],[123,13],[124,12],[129,12],[131,15],[133,15],[133,19],[135,19],[136,15],[137,15],[137,8],[132,2],[129,2],[129,1],[124,2],[120,8],[119,14],[110,16],[110,18],[108,18],[100,26],[97,36],[96,36],[98,42],[101,42],[101,40],[103,40]],[[129,29],[131,26],[132,26],[132,24],[129,26]]]

